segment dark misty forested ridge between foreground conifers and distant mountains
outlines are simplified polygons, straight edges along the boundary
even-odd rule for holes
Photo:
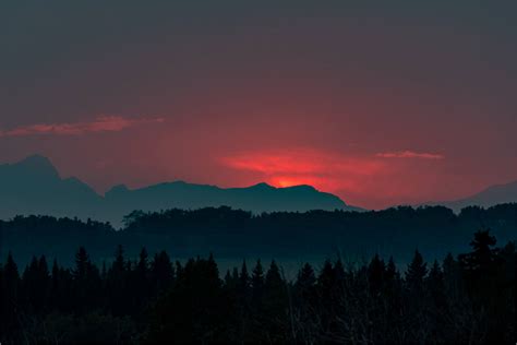
[[[99,263],[123,245],[137,257],[163,249],[180,258],[213,252],[217,258],[324,257],[342,251],[349,257],[394,254],[411,260],[418,246],[430,260],[468,250],[472,229],[491,228],[500,241],[517,239],[517,203],[490,209],[467,207],[459,214],[443,206],[394,207],[372,212],[310,211],[252,214],[230,207],[135,211],[116,230],[96,221],[16,216],[0,221],[0,257],[8,251],[25,266],[33,255],[47,254],[73,264],[80,246]]]

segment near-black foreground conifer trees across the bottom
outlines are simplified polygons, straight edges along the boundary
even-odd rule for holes
[[[219,272],[215,259],[172,261],[119,246],[71,267],[45,255],[0,265],[2,344],[514,344],[515,242],[489,230],[471,250],[407,267],[393,258],[303,264],[286,278],[275,261]]]

